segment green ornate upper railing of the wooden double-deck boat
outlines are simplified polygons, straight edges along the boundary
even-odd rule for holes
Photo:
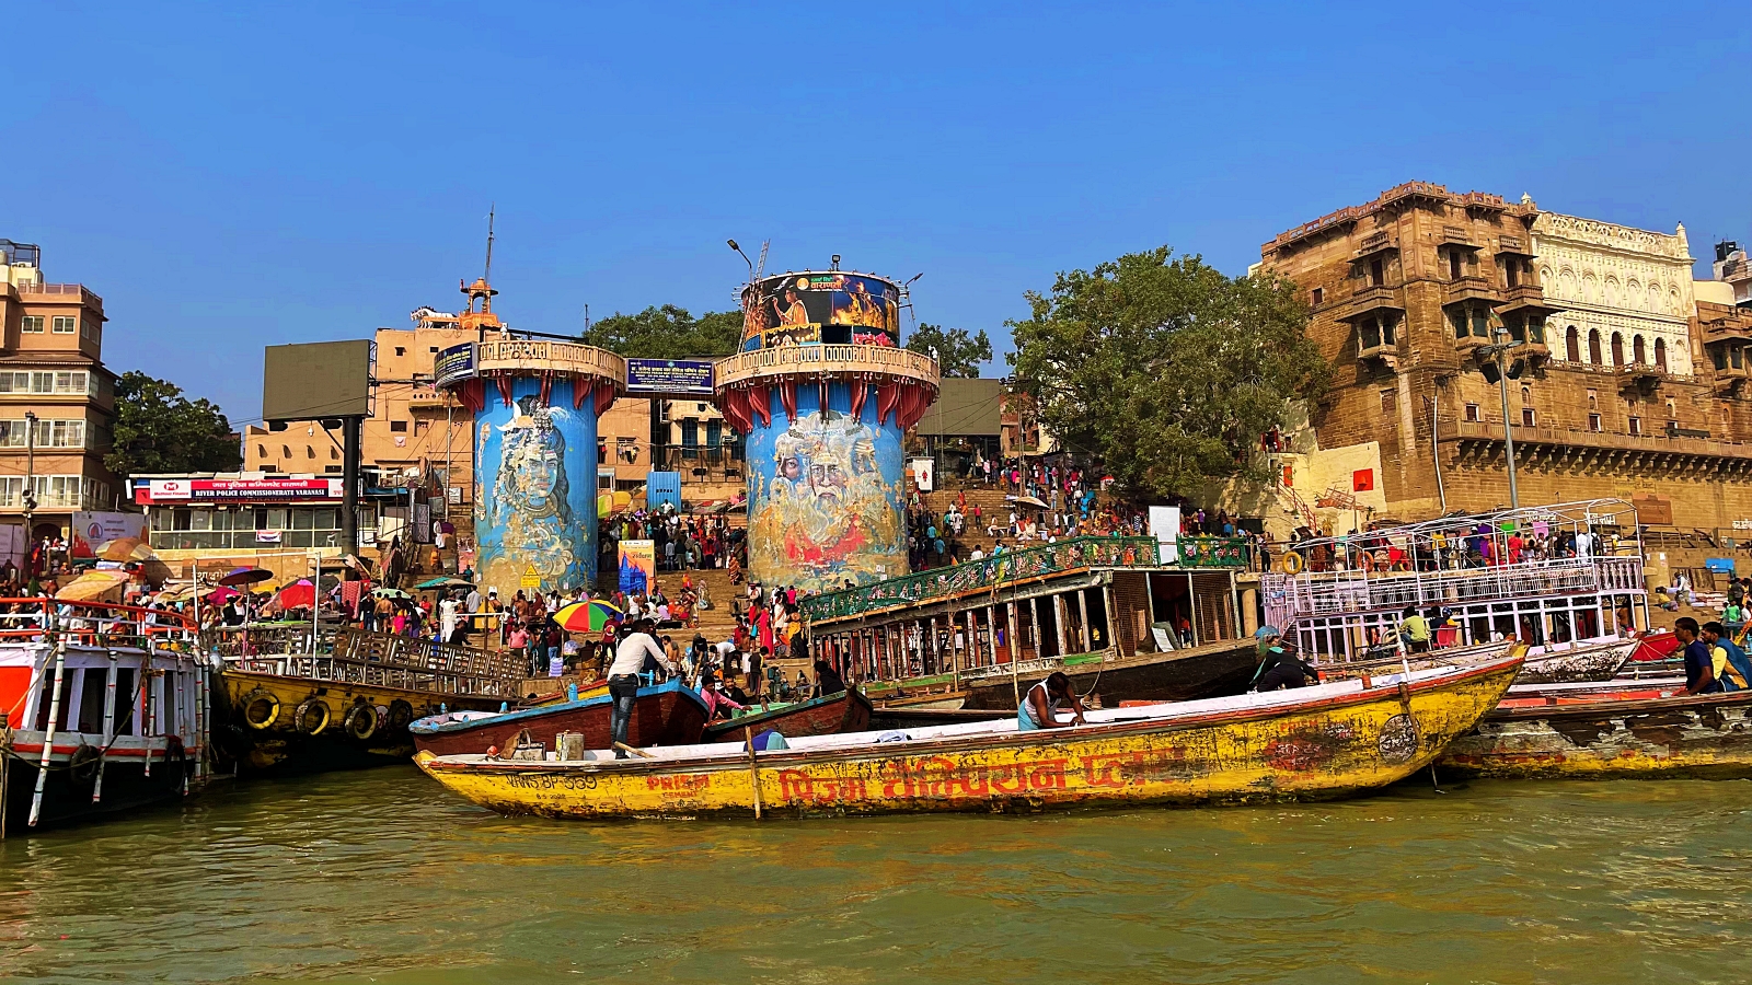
[[[1239,536],[1198,536],[1179,540],[1181,568],[1244,568],[1247,542]],[[895,605],[920,605],[943,598],[985,591],[1004,584],[1041,578],[1086,568],[1160,568],[1158,542],[1153,536],[1074,536],[1021,550],[1006,550],[979,561],[962,561],[899,575],[853,589],[822,592],[802,601],[811,620],[844,619]]]

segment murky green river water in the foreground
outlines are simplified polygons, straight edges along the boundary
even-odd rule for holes
[[[1748,981],[1752,783],[508,820],[412,768],[0,845],[4,981]]]

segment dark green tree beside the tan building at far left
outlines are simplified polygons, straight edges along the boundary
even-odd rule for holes
[[[244,454],[215,403],[189,400],[177,384],[130,370],[116,380],[114,447],[103,464],[117,475],[235,471]]]

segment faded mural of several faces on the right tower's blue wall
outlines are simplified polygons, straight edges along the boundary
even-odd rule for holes
[[[899,429],[837,410],[780,421],[750,435],[753,575],[837,589],[904,573]]]

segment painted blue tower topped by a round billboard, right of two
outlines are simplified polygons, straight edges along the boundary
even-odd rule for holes
[[[748,568],[766,585],[908,571],[902,436],[937,398],[937,363],[899,347],[901,303],[894,280],[841,270],[743,289],[743,351],[715,387],[748,435]]]

